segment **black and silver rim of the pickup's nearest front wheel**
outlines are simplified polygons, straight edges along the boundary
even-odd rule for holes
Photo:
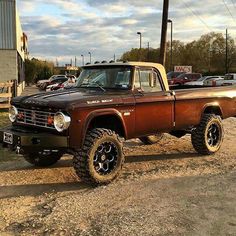
[[[104,142],[100,144],[94,155],[94,168],[100,175],[110,174],[117,165],[118,148],[112,142]]]

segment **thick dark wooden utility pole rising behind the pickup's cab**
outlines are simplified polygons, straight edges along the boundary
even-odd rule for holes
[[[162,13],[162,30],[161,30],[161,48],[159,62],[165,66],[166,62],[166,38],[167,38],[167,23],[168,23],[168,11],[169,0],[163,0],[163,13]]]

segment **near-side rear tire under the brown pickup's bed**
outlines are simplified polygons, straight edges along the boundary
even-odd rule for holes
[[[216,129],[211,133],[211,129]],[[200,124],[192,131],[191,140],[194,149],[202,155],[216,153],[223,142],[224,128],[220,116],[204,114]],[[212,145],[209,142],[213,142]]]

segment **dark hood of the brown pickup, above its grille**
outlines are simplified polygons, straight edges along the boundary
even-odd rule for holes
[[[46,92],[25,97],[16,97],[12,105],[23,108],[56,108],[70,110],[76,107],[104,106],[122,104],[122,95],[130,91],[99,91],[99,89],[73,88],[62,91]]]

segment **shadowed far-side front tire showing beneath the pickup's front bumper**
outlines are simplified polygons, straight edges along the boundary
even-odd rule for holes
[[[46,167],[56,164],[62,157],[61,153],[42,155],[39,153],[29,153],[23,155],[24,159],[34,166]]]

